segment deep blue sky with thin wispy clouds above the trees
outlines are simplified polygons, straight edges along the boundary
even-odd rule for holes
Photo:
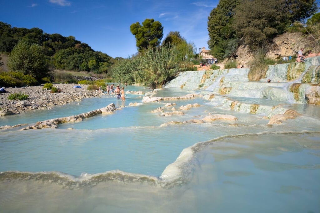
[[[37,27],[46,33],[74,36],[95,51],[112,57],[137,52],[130,25],[145,19],[160,21],[164,37],[179,31],[188,42],[208,48],[208,16],[216,1],[190,0],[2,0],[0,21],[12,27]]]

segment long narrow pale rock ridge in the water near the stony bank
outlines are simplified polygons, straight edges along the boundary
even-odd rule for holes
[[[62,123],[69,123],[69,122],[76,122],[76,121],[82,121],[84,118],[90,118],[92,116],[95,116],[97,114],[101,113],[110,113],[112,111],[116,110],[116,106],[113,103],[110,103],[108,106],[98,109],[98,110],[93,110],[90,112],[85,112],[79,115],[73,115],[73,116],[68,116],[68,117],[63,117],[63,118],[55,118],[55,119],[49,119],[49,120],[44,120],[44,121],[39,121],[36,123],[36,125],[33,126],[28,126],[25,127],[21,130],[26,130],[26,129],[43,129],[43,128],[57,128],[59,124]]]

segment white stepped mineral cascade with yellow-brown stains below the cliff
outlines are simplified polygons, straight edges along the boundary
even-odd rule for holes
[[[248,72],[247,68],[187,71],[180,73],[165,87],[202,89],[206,94],[211,92],[234,97],[306,103],[305,93],[310,90],[309,84],[320,83],[320,56],[307,58],[304,62],[270,65],[265,78],[260,81],[249,81]],[[270,83],[267,83],[268,79]]]

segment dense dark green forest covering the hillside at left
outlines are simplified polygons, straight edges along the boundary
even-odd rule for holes
[[[107,73],[114,59],[105,53],[96,52],[74,36],[64,37],[58,33],[44,33],[39,28],[16,28],[0,21],[0,52],[10,53],[19,40],[27,44],[38,44],[47,60],[57,69],[85,70]],[[89,61],[97,65],[89,68]]]

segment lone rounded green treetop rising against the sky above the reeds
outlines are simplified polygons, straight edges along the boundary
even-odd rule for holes
[[[133,23],[130,26],[130,31],[136,38],[136,46],[139,52],[147,49],[148,46],[156,47],[160,45],[163,37],[163,26],[154,19],[144,20],[142,26],[139,22]]]

